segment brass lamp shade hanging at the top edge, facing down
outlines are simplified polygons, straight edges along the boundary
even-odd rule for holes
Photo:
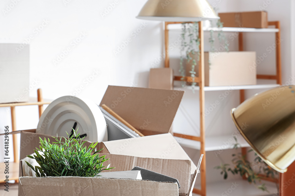
[[[136,18],[168,22],[219,19],[206,0],[148,0]]]

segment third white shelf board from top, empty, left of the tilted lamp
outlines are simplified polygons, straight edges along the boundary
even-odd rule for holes
[[[189,140],[179,137],[174,137],[182,147],[200,150],[201,144],[195,140]],[[250,147],[242,135],[237,135],[238,143],[241,147]],[[217,135],[208,136],[205,138],[205,151],[226,150],[232,149],[235,144],[235,139],[232,135]]]

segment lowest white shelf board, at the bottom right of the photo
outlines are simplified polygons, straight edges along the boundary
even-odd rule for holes
[[[262,184],[265,183],[268,188],[268,192],[262,191],[254,187],[254,185],[249,184],[247,180],[222,180],[220,182],[207,183],[206,195],[207,196],[217,196],[217,195],[233,195],[233,196],[273,196],[276,195],[277,188],[274,182],[261,181]],[[233,186],[233,184],[236,185]],[[258,184],[260,185],[260,184]],[[229,190],[235,188],[234,190]],[[228,194],[225,191],[228,191]],[[222,194],[224,193],[224,194]],[[197,194],[193,194],[196,196]]]

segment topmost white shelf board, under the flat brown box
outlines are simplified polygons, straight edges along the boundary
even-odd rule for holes
[[[181,30],[181,24],[169,24],[168,25],[169,30]],[[262,29],[256,29],[256,28],[237,28],[237,27],[204,27],[203,31],[224,31],[224,32],[253,32],[253,33],[276,33],[279,32],[279,29],[275,28],[262,28]]]

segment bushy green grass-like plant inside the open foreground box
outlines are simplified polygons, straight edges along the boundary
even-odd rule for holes
[[[31,159],[35,159],[39,166],[35,168],[27,163],[28,166],[35,171],[37,177],[48,176],[79,176],[79,177],[95,177],[103,170],[111,170],[110,164],[103,166],[103,163],[109,159],[106,155],[99,157],[99,152],[96,150],[96,143],[91,143],[86,148],[85,142],[82,141],[77,131],[68,138],[55,138],[55,142],[50,144],[49,138],[42,140],[40,138],[40,149],[36,148],[35,154],[27,155]],[[106,168],[104,168],[106,167]]]

